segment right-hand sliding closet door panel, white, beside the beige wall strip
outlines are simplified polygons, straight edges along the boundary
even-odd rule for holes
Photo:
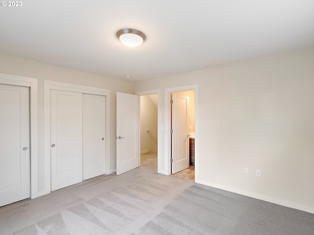
[[[105,96],[83,94],[83,180],[105,174]]]

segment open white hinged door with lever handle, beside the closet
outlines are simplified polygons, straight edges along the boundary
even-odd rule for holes
[[[117,175],[139,166],[138,95],[117,93]]]

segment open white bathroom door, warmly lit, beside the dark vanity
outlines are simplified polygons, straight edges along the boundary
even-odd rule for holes
[[[189,167],[189,138],[188,138],[188,106],[189,96],[172,94],[173,103],[171,115],[171,146],[172,146],[172,174]]]

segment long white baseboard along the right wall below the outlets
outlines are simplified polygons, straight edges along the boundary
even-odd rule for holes
[[[307,211],[310,213],[314,213],[314,208],[313,207],[309,207],[306,205],[300,205],[297,203],[293,203],[293,202],[289,202],[289,201],[285,201],[282,199],[278,199],[278,198],[274,198],[274,197],[269,197],[269,196],[265,196],[262,194],[258,194],[255,192],[248,192],[248,191],[244,191],[241,189],[237,189],[237,188],[230,188],[230,187],[225,187],[219,184],[215,184],[215,183],[210,183],[210,182],[206,182],[206,181],[202,181],[202,180],[195,180],[195,183],[201,184],[201,185],[206,185],[212,188],[219,188],[219,189],[223,189],[229,192],[235,192],[237,194],[241,194],[244,196],[248,196],[248,197],[253,197],[256,199],[260,199],[266,202],[271,202],[271,203],[275,203],[281,206],[285,206],[285,207],[289,207],[289,208],[293,208],[293,209],[297,209],[300,211]]]

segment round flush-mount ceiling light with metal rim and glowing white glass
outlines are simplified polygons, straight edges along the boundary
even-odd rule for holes
[[[117,32],[117,37],[124,45],[128,47],[137,47],[141,45],[146,39],[144,33],[131,28],[120,29]]]

